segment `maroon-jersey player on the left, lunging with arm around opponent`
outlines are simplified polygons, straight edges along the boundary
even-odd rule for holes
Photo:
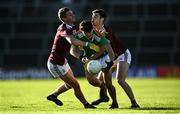
[[[74,77],[66,59],[66,53],[69,52],[71,44],[77,46],[87,46],[88,42],[82,42],[73,38],[73,34],[77,31],[77,29],[73,25],[75,15],[69,8],[63,7],[59,9],[58,17],[62,21],[62,24],[57,29],[47,66],[50,73],[54,77],[61,78],[64,81],[64,84],[60,85],[52,94],[47,96],[47,99],[61,106],[63,103],[57,98],[57,96],[60,93],[73,88],[75,96],[84,105],[84,108],[95,108],[86,101],[80,85]]]

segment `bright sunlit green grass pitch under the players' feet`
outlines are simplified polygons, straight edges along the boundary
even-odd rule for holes
[[[78,79],[81,89],[89,102],[98,98],[98,88]],[[97,109],[84,109],[75,98],[73,90],[63,93],[59,98],[64,105],[56,106],[46,100],[61,80],[13,80],[0,81],[0,114],[180,114],[180,79],[139,79],[129,78],[140,109],[130,109],[130,101],[122,88],[113,80],[120,108],[108,109],[111,101],[102,103]]]

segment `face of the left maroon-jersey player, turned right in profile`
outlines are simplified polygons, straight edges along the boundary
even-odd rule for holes
[[[69,10],[67,13],[66,13],[66,18],[65,18],[65,22],[66,23],[74,23],[76,21],[76,18],[75,18],[75,15],[74,13]]]

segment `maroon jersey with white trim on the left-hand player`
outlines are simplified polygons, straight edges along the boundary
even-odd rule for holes
[[[67,52],[69,52],[71,44],[66,40],[67,35],[73,35],[78,31],[78,27],[70,26],[62,23],[56,32],[52,45],[49,60],[53,64],[63,65]]]

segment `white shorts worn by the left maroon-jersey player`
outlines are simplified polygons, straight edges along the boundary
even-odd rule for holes
[[[68,72],[68,70],[70,69],[70,66],[69,66],[69,64],[68,64],[66,59],[65,59],[64,65],[54,65],[53,63],[51,63],[48,60],[47,67],[48,67],[48,70],[50,71],[50,73],[55,78],[64,76]]]

